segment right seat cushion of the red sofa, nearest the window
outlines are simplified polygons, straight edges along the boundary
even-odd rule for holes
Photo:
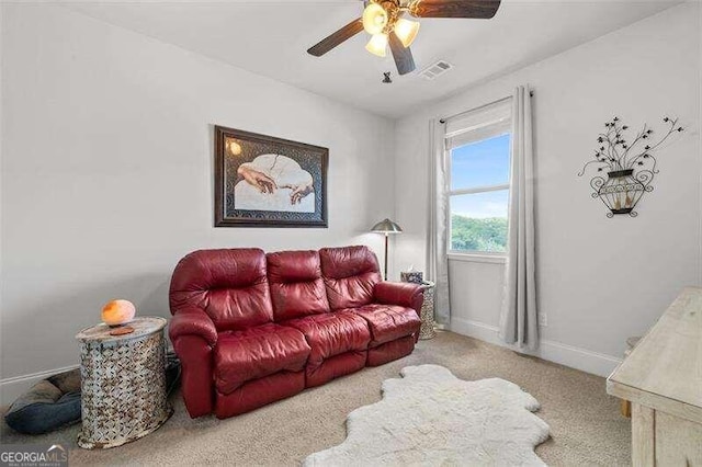
[[[369,323],[371,348],[419,332],[421,326],[417,311],[398,305],[371,304],[349,308],[348,311],[359,315]]]

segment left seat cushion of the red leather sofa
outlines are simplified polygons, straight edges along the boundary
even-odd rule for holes
[[[278,372],[299,372],[309,345],[298,330],[268,323],[244,331],[223,332],[215,349],[215,386],[229,394],[246,381]]]

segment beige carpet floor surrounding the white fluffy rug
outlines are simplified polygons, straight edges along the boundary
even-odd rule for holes
[[[78,425],[25,436],[0,423],[0,442],[61,444],[70,449],[73,467],[294,466],[343,442],[347,415],[381,400],[383,380],[396,378],[405,366],[426,363],[465,380],[507,379],[534,396],[541,402],[539,417],[551,426],[551,438],[536,446],[536,454],[550,466],[631,465],[630,423],[620,415],[618,400],[607,395],[603,378],[452,332],[419,341],[405,358],[227,420],[192,420],[177,392],[171,397],[176,412],[163,426],[114,449],[77,447]]]

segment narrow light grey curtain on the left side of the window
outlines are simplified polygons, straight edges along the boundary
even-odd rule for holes
[[[434,318],[439,324],[451,323],[449,303],[449,260],[446,203],[446,151],[444,146],[444,125],[438,119],[429,122],[429,209],[427,232],[428,278],[435,283]]]

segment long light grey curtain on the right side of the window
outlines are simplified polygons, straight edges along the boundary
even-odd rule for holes
[[[500,338],[520,349],[539,345],[534,259],[534,189],[529,87],[514,89],[509,195],[508,258]]]

